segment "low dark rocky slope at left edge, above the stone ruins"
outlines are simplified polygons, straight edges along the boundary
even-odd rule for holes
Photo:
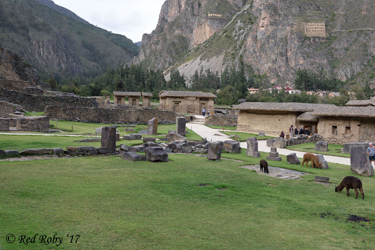
[[[39,74],[26,61],[23,61],[18,55],[6,49],[0,44],[0,78],[7,80],[30,81],[34,85],[45,86],[40,81]],[[47,86],[48,87],[48,86]]]

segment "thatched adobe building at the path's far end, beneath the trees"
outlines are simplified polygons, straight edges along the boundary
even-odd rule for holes
[[[205,107],[214,110],[213,98],[216,95],[207,92],[194,91],[161,91],[159,93],[159,109],[170,110],[175,113],[187,114],[192,112],[201,115],[201,110]]]

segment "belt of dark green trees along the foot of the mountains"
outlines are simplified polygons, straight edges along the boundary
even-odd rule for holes
[[[159,101],[157,94],[162,90],[176,91],[203,91],[217,95],[216,104],[236,105],[239,99],[246,99],[251,102],[298,102],[298,103],[326,103],[344,106],[348,100],[368,99],[372,96],[373,90],[369,85],[362,88],[353,85],[348,89],[348,83],[335,77],[330,77],[321,70],[315,73],[311,70],[299,69],[296,71],[295,88],[300,89],[301,94],[285,94],[276,89],[269,91],[273,85],[269,82],[266,74],[256,73],[250,65],[243,64],[240,60],[238,69],[228,66],[224,71],[212,72],[203,68],[187,78],[176,69],[171,72],[170,80],[166,81],[162,70],[148,69],[142,64],[122,64],[116,68],[107,68],[104,74],[95,77],[76,77],[54,79],[49,75],[52,88],[58,88],[64,92],[72,92],[81,96],[98,96],[112,94],[113,91],[135,91],[152,92],[153,101]],[[280,83],[279,85],[283,85]],[[255,94],[248,93],[248,87],[259,88]],[[346,87],[346,89],[344,88]],[[220,92],[216,92],[220,89]],[[308,95],[309,90],[326,90],[340,92],[339,97],[319,97]],[[356,93],[350,96],[348,91]]]

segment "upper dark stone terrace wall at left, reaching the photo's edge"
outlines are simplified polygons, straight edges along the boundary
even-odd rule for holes
[[[95,97],[31,95],[19,91],[0,88],[0,100],[21,105],[27,111],[41,112],[48,105],[63,107],[98,107]]]

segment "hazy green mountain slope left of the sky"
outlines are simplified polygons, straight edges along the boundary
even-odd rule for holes
[[[42,2],[56,10],[35,0],[0,0],[0,43],[40,73],[92,75],[138,54],[130,39],[87,24],[52,1]]]

